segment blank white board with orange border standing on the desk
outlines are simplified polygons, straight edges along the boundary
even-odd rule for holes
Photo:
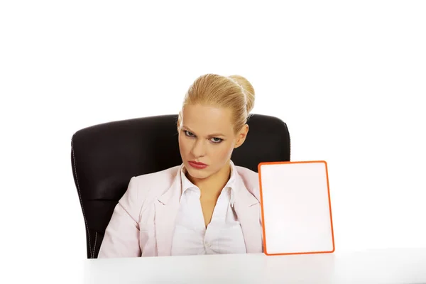
[[[267,254],[334,251],[324,162],[261,164]]]

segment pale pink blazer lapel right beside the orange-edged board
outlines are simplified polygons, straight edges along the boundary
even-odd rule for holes
[[[247,253],[261,253],[263,252],[261,204],[246,189],[240,177],[237,188],[234,209],[244,234],[246,251]]]

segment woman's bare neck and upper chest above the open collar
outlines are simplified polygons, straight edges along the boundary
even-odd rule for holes
[[[228,162],[219,170],[219,172],[214,175],[209,176],[209,178],[197,179],[188,176],[187,178],[194,184],[200,188],[201,197],[200,199],[206,201],[217,201],[219,198],[222,189],[228,182],[231,177],[231,164]]]

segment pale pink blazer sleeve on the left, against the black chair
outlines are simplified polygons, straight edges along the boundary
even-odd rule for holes
[[[114,208],[111,220],[105,230],[98,258],[120,258],[141,256],[139,246],[138,182],[131,178],[126,193]]]

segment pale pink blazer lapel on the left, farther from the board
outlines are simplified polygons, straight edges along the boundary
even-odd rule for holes
[[[158,256],[170,256],[175,220],[180,207],[180,170],[169,190],[155,202],[155,239]]]

